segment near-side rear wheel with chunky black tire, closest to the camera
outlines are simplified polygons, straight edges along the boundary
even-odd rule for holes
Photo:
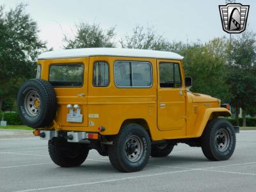
[[[133,154],[127,153],[127,146],[133,145],[132,139],[134,141],[138,140],[138,143],[140,143],[137,145],[137,148],[135,147],[137,152],[134,152],[134,157],[132,157]],[[135,146],[136,142],[134,143]],[[141,149],[140,153],[138,148]],[[119,134],[113,138],[113,145],[108,147],[109,160],[112,166],[120,172],[138,172],[142,170],[148,163],[150,152],[151,141],[148,132],[138,124],[122,126]],[[136,160],[137,156],[138,160]]]

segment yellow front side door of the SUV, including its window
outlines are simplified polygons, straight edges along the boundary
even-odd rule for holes
[[[180,61],[157,60],[157,127],[161,131],[186,129],[186,90]]]

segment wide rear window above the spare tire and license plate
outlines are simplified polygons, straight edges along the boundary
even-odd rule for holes
[[[52,86],[83,86],[83,76],[83,64],[51,65],[49,71],[49,82]]]

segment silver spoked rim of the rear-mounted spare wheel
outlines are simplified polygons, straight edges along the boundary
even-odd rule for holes
[[[36,116],[40,112],[40,97],[35,90],[26,93],[24,108],[29,116]]]

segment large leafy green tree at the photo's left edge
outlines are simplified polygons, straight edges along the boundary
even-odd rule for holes
[[[4,12],[0,6],[0,110],[3,100],[14,98],[25,79],[35,77],[36,57],[45,48],[25,8],[19,4]]]

